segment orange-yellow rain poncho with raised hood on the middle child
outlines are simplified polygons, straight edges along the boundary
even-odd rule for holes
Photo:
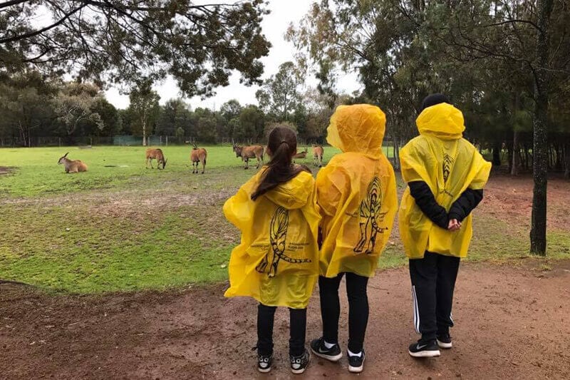
[[[372,277],[398,207],[394,170],[382,151],[386,118],[368,104],[339,106],[327,128],[335,155],[318,172],[323,244],[320,273]]]

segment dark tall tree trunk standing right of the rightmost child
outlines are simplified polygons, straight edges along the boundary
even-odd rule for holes
[[[532,217],[530,230],[530,252],[546,255],[546,175],[548,173],[548,96],[549,75],[546,71],[549,58],[549,19],[554,0],[538,0],[538,67],[534,71],[534,120],[532,171],[534,189],[532,192]]]

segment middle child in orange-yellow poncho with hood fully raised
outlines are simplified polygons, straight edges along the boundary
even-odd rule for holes
[[[327,141],[336,155],[316,178],[321,207],[322,247],[318,287],[323,335],[311,351],[331,361],[342,357],[338,344],[338,287],[346,274],[348,294],[348,370],[361,372],[368,324],[368,278],[392,230],[397,196],[392,165],[382,151],[385,115],[376,106],[339,106]]]

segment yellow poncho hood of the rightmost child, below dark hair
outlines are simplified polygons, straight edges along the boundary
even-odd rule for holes
[[[432,135],[442,140],[462,138],[465,130],[463,113],[448,103],[425,108],[415,123],[420,135]]]

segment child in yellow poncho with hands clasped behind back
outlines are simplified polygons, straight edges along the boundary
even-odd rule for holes
[[[455,279],[471,241],[471,211],[482,200],[491,164],[462,138],[463,114],[445,96],[425,98],[416,123],[420,135],[400,150],[408,188],[398,221],[410,259],[415,329],[422,334],[408,352],[431,357],[452,346]]]

